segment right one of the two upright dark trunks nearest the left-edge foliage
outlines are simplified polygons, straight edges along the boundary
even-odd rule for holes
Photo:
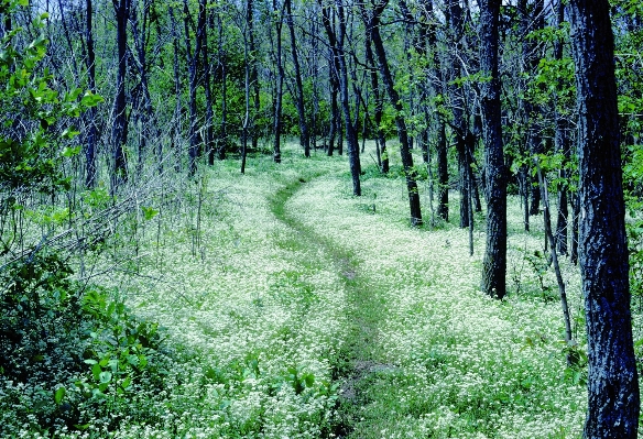
[[[127,141],[128,118],[126,100],[126,75],[127,75],[127,44],[128,44],[128,19],[130,17],[130,0],[113,0],[113,9],[117,22],[117,53],[118,72],[116,77],[116,100],[113,106],[113,129],[111,133],[113,173],[111,176],[111,191],[116,193],[118,186],[128,177],[128,169],[124,154],[124,143]]]

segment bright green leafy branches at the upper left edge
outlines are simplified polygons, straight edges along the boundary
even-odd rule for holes
[[[14,11],[19,3],[4,4]],[[43,14],[40,20],[45,18]],[[34,22],[37,32],[43,28],[40,20]],[[87,108],[102,102],[102,98],[89,91],[83,94],[79,88],[59,96],[51,86],[54,78],[48,70],[39,70],[47,40],[41,34],[25,47],[19,47],[22,33],[18,28],[0,41],[0,83],[7,85],[0,90],[4,114],[0,127],[0,188],[33,188],[53,194],[69,188],[69,179],[59,173],[59,163],[79,152],[77,147],[62,146],[78,131],[59,121],[79,117]]]

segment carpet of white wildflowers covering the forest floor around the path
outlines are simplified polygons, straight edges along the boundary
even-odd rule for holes
[[[281,165],[251,158],[246,175],[205,171],[200,212],[196,199],[162,211],[138,274],[101,279],[165,328],[164,389],[118,396],[116,428],[42,437],[580,437],[585,369],[566,365],[540,220],[522,232],[510,202],[510,293],[490,299],[483,218],[469,256],[457,194],[451,222],[412,229],[403,177],[370,167],[359,198],[345,158],[295,149]],[[582,348],[578,270],[562,262]]]

